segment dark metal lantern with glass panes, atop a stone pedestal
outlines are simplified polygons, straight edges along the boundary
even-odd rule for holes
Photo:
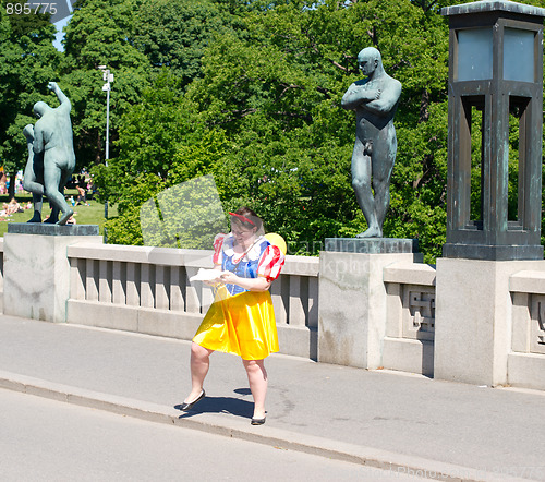
[[[449,17],[450,28],[447,242],[443,255],[543,260],[545,10],[483,0],[448,7],[441,13]],[[511,125],[513,120],[518,123],[519,135],[518,205],[509,213],[510,118]]]

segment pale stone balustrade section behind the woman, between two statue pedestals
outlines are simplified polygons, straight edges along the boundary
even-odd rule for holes
[[[190,282],[211,267],[211,251],[77,243],[68,248],[71,290],[66,321],[191,339],[213,290]],[[287,256],[271,297],[282,352],[316,358],[318,264]]]

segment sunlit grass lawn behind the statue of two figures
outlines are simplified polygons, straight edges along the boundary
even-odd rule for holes
[[[64,190],[64,195],[68,197],[74,196],[77,198],[77,190],[66,189]],[[21,192],[15,195],[15,200],[23,206],[28,202],[32,203],[32,194],[27,192]],[[3,203],[8,203],[8,195],[0,195],[0,206]],[[97,201],[88,201],[89,205],[74,206],[74,218],[78,225],[98,225],[99,232],[104,231],[105,217],[104,217],[104,203]],[[43,216],[47,216],[50,213],[49,203],[47,197],[44,198],[44,207],[41,209]],[[8,217],[0,217],[0,237],[3,237],[8,232],[8,225],[10,222],[26,222],[33,217],[34,209],[24,209],[23,213],[15,213]],[[114,217],[118,212],[114,207],[108,207],[108,217]]]

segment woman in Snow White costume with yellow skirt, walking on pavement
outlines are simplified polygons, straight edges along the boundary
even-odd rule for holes
[[[247,207],[231,215],[231,232],[214,241],[216,297],[191,347],[192,390],[181,406],[191,410],[205,397],[203,383],[216,351],[238,354],[254,398],[253,425],[265,423],[265,358],[278,351],[270,284],[280,275],[284,255],[263,236],[263,221]]]

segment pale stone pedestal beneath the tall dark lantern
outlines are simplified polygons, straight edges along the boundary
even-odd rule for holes
[[[435,378],[488,386],[508,383],[509,278],[525,269],[545,270],[545,261],[437,260]]]

